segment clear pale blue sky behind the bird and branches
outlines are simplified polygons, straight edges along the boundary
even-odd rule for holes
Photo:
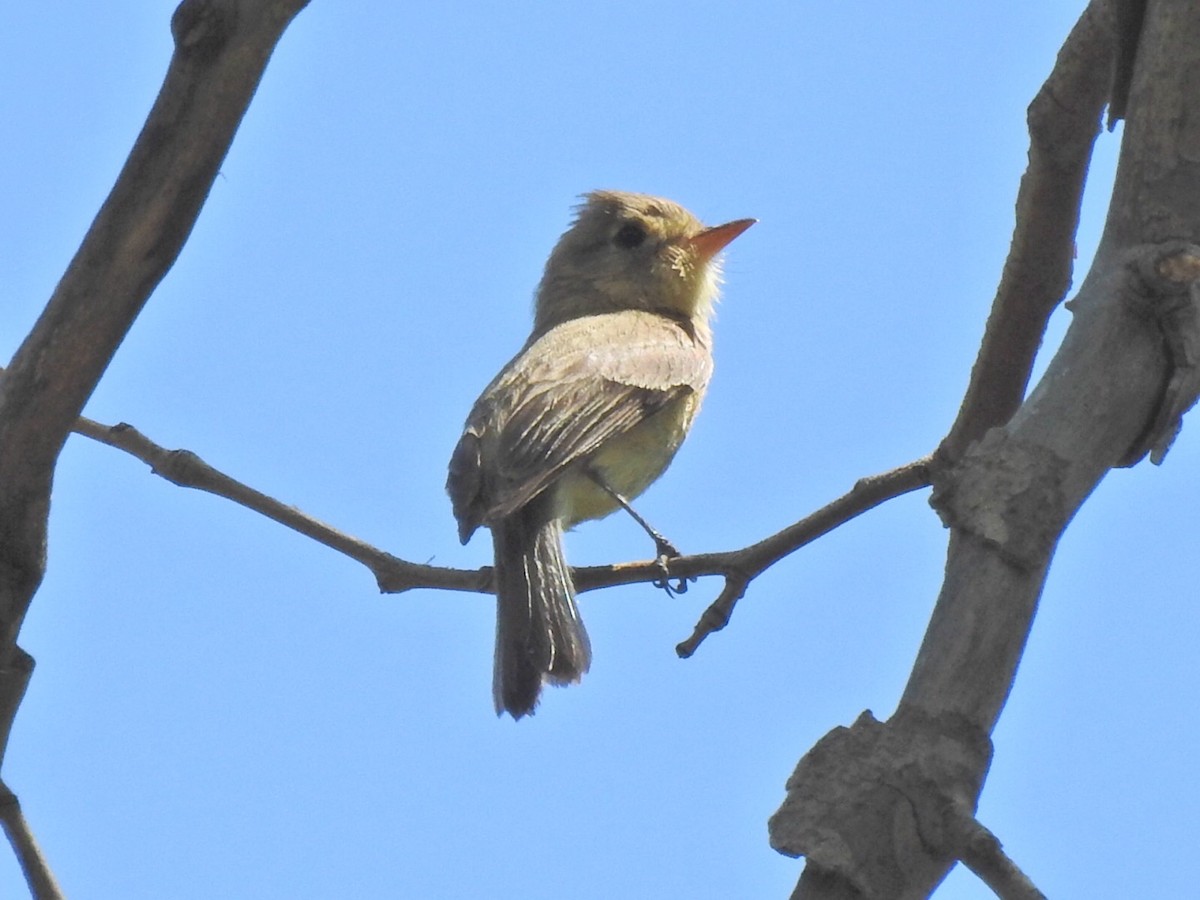
[[[760,222],[727,254],[706,407],[638,506],[685,551],[758,540],[953,420],[1025,107],[1082,6],[313,0],[88,413],[397,556],[484,565],[443,493],[462,419],[577,196],[660,193]],[[4,359],[150,108],[172,10],[0,13]],[[995,733],[980,818],[1050,896],[1200,877],[1194,427],[1076,517]],[[895,500],[756,581],[686,661],[718,581],[584,595],[593,671],[514,724],[487,596],[380,596],[83,438],[50,526],[4,775],[79,900],[786,896],[800,864],[767,817],[821,736],[892,713],[946,550],[924,492]],[[613,517],[568,553],[649,546]],[[20,889],[0,852],[0,896]],[[938,896],[990,893],[955,870]]]

